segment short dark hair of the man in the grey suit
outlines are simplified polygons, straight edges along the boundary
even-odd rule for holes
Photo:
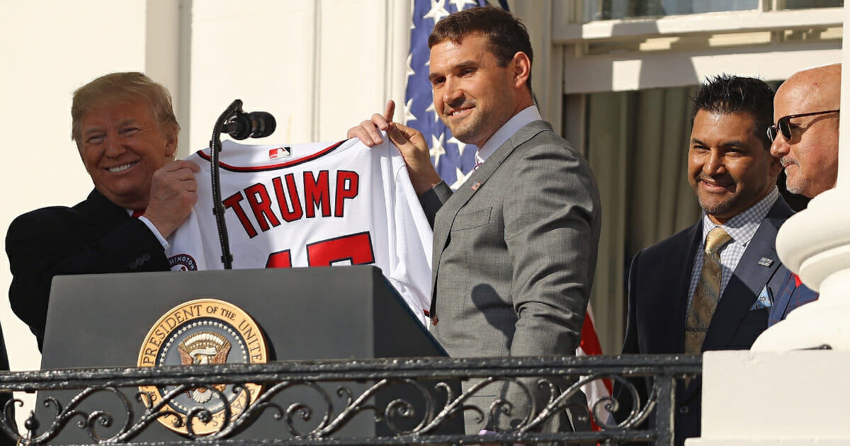
[[[428,36],[428,48],[445,41],[460,45],[464,37],[475,33],[487,37],[490,53],[496,56],[499,66],[507,66],[513,55],[520,51],[529,56],[529,62],[534,61],[529,31],[523,22],[506,10],[491,5],[463,9],[439,20]],[[525,86],[531,91],[530,72]]]

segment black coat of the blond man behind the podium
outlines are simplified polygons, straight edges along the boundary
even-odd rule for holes
[[[77,206],[45,207],[15,218],[6,253],[12,270],[9,302],[30,326],[39,350],[54,276],[168,270],[156,235],[97,190]]]

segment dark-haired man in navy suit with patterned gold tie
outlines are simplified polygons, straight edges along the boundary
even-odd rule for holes
[[[776,188],[782,166],[766,133],[773,99],[772,88],[749,77],[717,76],[697,91],[688,179],[703,217],[634,257],[623,353],[747,349],[775,302],[813,293],[787,286],[791,272],[774,246],[793,211]],[[632,382],[645,402],[652,383]],[[676,444],[700,435],[701,384],[677,384]],[[621,411],[631,409],[623,387],[615,396]]]

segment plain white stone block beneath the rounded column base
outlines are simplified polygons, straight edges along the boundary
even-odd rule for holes
[[[706,352],[701,437],[685,446],[850,444],[847,367],[850,352]]]

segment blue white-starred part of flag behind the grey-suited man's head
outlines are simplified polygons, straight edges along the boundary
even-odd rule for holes
[[[425,135],[431,147],[431,162],[445,183],[456,189],[475,167],[475,150],[451,136],[448,128],[433,110],[433,93],[428,81],[428,35],[433,25],[446,15],[473,6],[484,6],[485,0],[414,0],[411,22],[411,52],[407,55],[407,90],[405,93],[405,125]],[[507,4],[502,4],[507,9]]]

